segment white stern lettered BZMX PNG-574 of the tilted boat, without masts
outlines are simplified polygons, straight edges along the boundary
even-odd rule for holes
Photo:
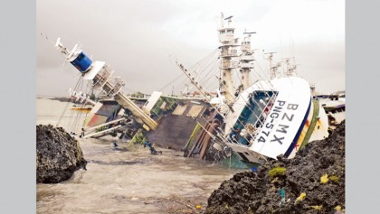
[[[225,116],[227,145],[243,161],[262,163],[294,157],[313,140],[328,136],[328,117],[298,77],[258,80],[244,90]]]

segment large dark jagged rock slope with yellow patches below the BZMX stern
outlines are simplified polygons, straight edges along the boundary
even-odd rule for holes
[[[257,172],[235,174],[211,194],[205,213],[335,213],[338,205],[344,209],[345,135],[343,122],[328,138],[307,144],[293,159],[279,156]],[[284,167],[286,172],[270,177],[274,167]],[[326,173],[329,180],[321,183]],[[281,188],[286,201],[282,203]],[[305,199],[295,202],[302,192]]]

